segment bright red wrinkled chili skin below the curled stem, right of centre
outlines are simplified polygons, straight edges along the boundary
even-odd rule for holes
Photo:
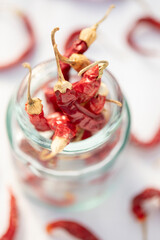
[[[98,65],[87,70],[80,81],[73,83],[73,89],[76,92],[78,103],[89,101],[98,92],[101,79],[98,79]]]

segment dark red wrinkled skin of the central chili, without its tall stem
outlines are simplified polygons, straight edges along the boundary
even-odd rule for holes
[[[60,91],[56,91],[55,94],[59,108],[68,116],[72,123],[79,125],[80,128],[96,132],[105,125],[106,120],[102,114],[93,114],[76,101],[77,98],[73,89],[67,89],[66,93],[63,94]]]

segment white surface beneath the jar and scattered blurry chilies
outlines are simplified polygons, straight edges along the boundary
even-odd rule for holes
[[[148,2],[151,1],[148,0]],[[14,0],[11,3],[28,13],[35,28],[37,48],[32,58],[29,59],[32,66],[53,57],[50,42],[50,32],[53,27],[61,28],[56,39],[62,49],[65,34],[76,27],[94,23],[108,7],[108,3],[105,1],[100,4],[92,3],[92,5],[89,1],[82,3],[75,0]],[[157,14],[160,10],[160,2],[157,0],[154,3],[151,11]],[[100,27],[99,38],[86,55],[93,59],[96,55],[96,60],[109,60],[109,69],[119,80],[130,103],[134,131],[139,133],[142,138],[150,138],[152,132],[159,125],[160,119],[160,61],[158,58],[139,56],[125,42],[125,33],[133,20],[147,11],[141,6],[138,1],[117,1],[117,8]],[[24,43],[24,39],[18,38],[14,34],[22,32],[22,26],[19,23],[16,25],[13,21],[6,23],[5,25],[1,23],[0,15],[0,36],[4,34],[10,38],[10,41],[4,41],[4,37],[1,41],[0,38],[0,53],[3,52],[3,55],[0,54],[0,61],[13,56],[16,51],[18,52],[19,46],[22,46],[22,41]],[[7,30],[4,26],[7,27]],[[8,28],[9,26],[10,28]],[[10,46],[7,45],[8,43]],[[130,200],[144,187],[160,187],[160,166],[157,162],[160,159],[159,148],[142,151],[128,146],[124,152],[126,165],[117,188],[114,189],[107,201],[95,209],[79,213],[58,213],[35,205],[23,196],[8,150],[5,113],[12,92],[25,74],[26,71],[21,66],[0,73],[0,226],[2,226],[0,235],[7,226],[6,186],[11,185],[20,208],[20,228],[16,240],[49,239],[45,234],[45,224],[59,218],[82,222],[94,230],[102,240],[141,240],[140,226],[130,213]],[[159,219],[158,214],[150,215],[148,240],[159,239]],[[67,236],[66,239],[61,237],[61,239],[67,240],[69,237]]]

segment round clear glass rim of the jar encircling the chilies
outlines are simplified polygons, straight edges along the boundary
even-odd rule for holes
[[[44,72],[44,68],[46,68],[47,65],[51,67],[53,64],[56,64],[55,60],[48,60],[43,63],[38,64],[36,67],[33,68],[32,70],[32,78],[34,78],[37,74],[38,71]],[[72,155],[75,153],[84,153],[88,152],[94,148],[97,148],[104,144],[107,139],[109,139],[110,135],[118,128],[121,120],[122,120],[122,112],[124,109],[124,98],[122,91],[120,89],[120,86],[117,82],[117,80],[113,77],[113,75],[108,71],[105,70],[104,77],[108,78],[110,81],[114,83],[114,87],[117,90],[117,101],[122,102],[122,107],[118,107],[116,104],[113,104],[113,113],[107,122],[107,124],[96,134],[91,136],[88,139],[79,141],[79,142],[71,142],[69,145],[65,147],[65,149],[60,153],[61,155],[67,154],[67,155]],[[27,117],[27,114],[24,110],[24,105],[19,103],[19,92],[21,88],[26,88],[27,89],[27,79],[28,79],[28,74],[25,76],[23,79],[22,83],[20,84],[20,87],[18,88],[17,92],[17,97],[15,99],[16,101],[16,115],[17,115],[17,120],[18,123],[20,124],[20,127],[24,131],[25,135],[29,137],[30,140],[38,144],[40,147],[48,149],[51,151],[51,143],[52,141],[50,139],[47,139],[43,137],[30,123],[29,118]],[[33,79],[34,81],[34,79]],[[103,81],[103,77],[102,77]],[[23,106],[23,107],[22,107]]]

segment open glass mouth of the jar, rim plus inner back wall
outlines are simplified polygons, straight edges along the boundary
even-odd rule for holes
[[[36,90],[36,80],[38,79],[38,83],[41,84],[44,78],[52,79],[57,76],[56,70],[56,62],[55,60],[48,60],[41,64],[38,64],[33,68],[32,71],[32,92]],[[25,112],[25,103],[27,101],[27,80],[28,74],[23,79],[18,92],[15,98],[15,106],[16,106],[16,117],[17,121],[22,128],[26,137],[32,140],[34,143],[39,145],[42,148],[48,149],[51,151],[51,143],[50,139],[43,137],[30,123],[27,113]],[[117,80],[113,77],[113,75],[105,70],[102,81],[107,81],[107,87],[110,92],[110,98],[120,101],[123,105],[122,107],[118,107],[116,104],[112,104],[112,114],[110,116],[107,124],[93,136],[79,141],[79,142],[71,142],[69,145],[65,147],[65,149],[60,153],[61,155],[72,155],[78,153],[88,152],[93,150],[102,144],[104,144],[111,134],[118,128],[122,121],[122,113],[124,111],[124,97],[120,86]]]

